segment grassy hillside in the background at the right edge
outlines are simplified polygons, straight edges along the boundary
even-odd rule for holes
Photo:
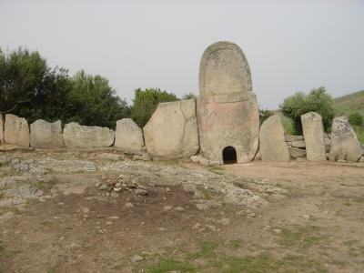
[[[364,115],[364,90],[334,98],[335,116],[359,112]]]

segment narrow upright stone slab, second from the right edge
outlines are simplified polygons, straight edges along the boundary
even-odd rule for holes
[[[315,112],[301,116],[308,161],[326,161],[324,126],[322,117]]]

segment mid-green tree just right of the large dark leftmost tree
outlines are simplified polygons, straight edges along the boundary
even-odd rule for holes
[[[68,121],[115,128],[118,119],[129,116],[126,100],[116,96],[115,89],[109,86],[105,77],[87,75],[81,70],[71,78],[71,82]]]

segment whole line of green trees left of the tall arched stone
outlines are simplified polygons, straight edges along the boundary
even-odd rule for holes
[[[183,98],[194,96],[192,93]],[[132,105],[116,95],[103,76],[84,70],[70,76],[63,67],[50,67],[37,51],[0,48],[0,113],[53,122],[58,119],[86,126],[115,128],[116,120],[131,117],[145,126],[158,103],[179,98],[158,88],[136,89]]]

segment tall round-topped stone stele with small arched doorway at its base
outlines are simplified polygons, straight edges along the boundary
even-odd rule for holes
[[[247,58],[238,45],[218,42],[207,47],[199,70],[197,122],[201,154],[223,163],[233,147],[238,162],[258,151],[259,116]]]

